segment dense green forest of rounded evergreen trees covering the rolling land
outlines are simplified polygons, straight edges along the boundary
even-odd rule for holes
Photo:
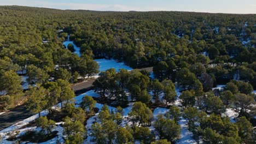
[[[57,136],[53,129],[62,122],[63,143],[89,137],[94,143],[179,143],[184,119],[196,143],[255,143],[255,20],[255,14],[0,6],[0,112],[26,104],[39,114],[29,125],[41,128],[8,140],[44,142]],[[72,44],[63,45],[68,38],[80,56]],[[99,71],[97,58],[134,70]],[[153,76],[138,70],[147,67]],[[75,102],[70,86],[97,74],[98,97]],[[159,107],[167,111],[155,116]],[[40,116],[43,110],[49,114]],[[237,115],[230,119],[226,111]],[[92,117],[96,122],[86,128]]]

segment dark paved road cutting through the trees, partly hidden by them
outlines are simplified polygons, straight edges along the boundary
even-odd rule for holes
[[[143,69],[146,69],[149,72],[153,71],[153,67]],[[77,83],[76,85],[72,86],[72,89],[75,91],[76,95],[82,94],[92,88],[92,83],[94,81],[95,80],[88,80]],[[26,110],[26,105],[17,106],[13,110],[10,110],[0,115],[0,130],[7,128],[14,123],[20,122],[23,119],[26,119],[32,115],[32,112]]]

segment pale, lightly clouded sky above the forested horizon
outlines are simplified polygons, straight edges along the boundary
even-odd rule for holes
[[[99,11],[195,11],[256,14],[256,0],[0,0],[0,5]]]

